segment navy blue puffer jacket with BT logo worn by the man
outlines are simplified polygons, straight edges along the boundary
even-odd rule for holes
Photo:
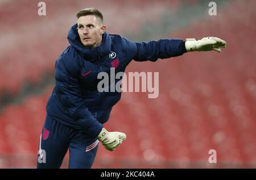
[[[47,102],[47,114],[64,125],[86,132],[90,137],[100,133],[112,107],[121,98],[121,93],[100,93],[97,90],[101,80],[97,79],[98,73],[110,74],[112,67],[115,73],[125,72],[131,60],[156,61],[185,52],[181,39],[133,42],[107,32],[99,47],[89,49],[82,45],[76,28],[77,24],[69,30],[70,45],[55,63],[56,83]]]

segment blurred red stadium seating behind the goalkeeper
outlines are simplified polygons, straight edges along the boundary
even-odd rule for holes
[[[95,7],[109,34],[134,41],[217,36],[227,47],[126,72],[159,72],[159,97],[123,93],[106,127],[127,134],[114,152],[102,145],[93,168],[256,168],[256,1],[0,1],[0,168],[36,168],[54,65],[76,12]],[[217,164],[209,164],[210,149]],[[63,166],[68,166],[68,154]]]

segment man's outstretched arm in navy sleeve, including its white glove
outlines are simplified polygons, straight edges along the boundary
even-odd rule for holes
[[[191,51],[217,51],[226,47],[226,42],[218,37],[204,37],[201,40],[160,39],[159,41],[133,42],[123,38],[123,45],[129,59],[135,61],[156,61]]]

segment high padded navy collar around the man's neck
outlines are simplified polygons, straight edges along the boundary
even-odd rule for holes
[[[68,41],[69,44],[77,51],[79,51],[86,60],[96,61],[101,57],[104,57],[109,54],[111,50],[112,40],[108,32],[102,35],[102,43],[96,48],[86,48],[80,41],[79,34],[77,32],[77,24],[71,27],[68,32]]]

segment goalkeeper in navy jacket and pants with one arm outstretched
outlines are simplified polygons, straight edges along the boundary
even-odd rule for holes
[[[99,143],[113,151],[126,139],[125,133],[108,132],[103,126],[121,93],[98,91],[98,73],[110,74],[110,68],[125,72],[131,60],[156,61],[191,51],[221,52],[226,47],[218,37],[134,42],[109,35],[101,12],[93,8],[77,12],[68,41],[55,63],[56,83],[47,102],[38,168],[60,168],[68,149],[69,168],[91,168]]]

